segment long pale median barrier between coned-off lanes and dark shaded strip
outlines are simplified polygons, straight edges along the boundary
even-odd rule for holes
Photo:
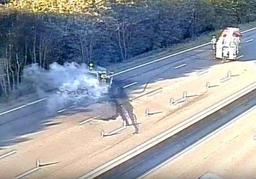
[[[94,169],[92,172],[89,172],[78,179],[94,179],[97,176],[103,174],[104,172],[116,167],[117,165],[127,161],[128,159],[138,155],[139,153],[143,153],[144,151],[150,149],[151,147],[159,144],[160,142],[164,141],[165,139],[177,134],[178,132],[184,130],[192,126],[193,124],[197,123],[198,121],[204,119],[205,117],[209,116],[210,114],[220,110],[227,104],[236,101],[237,99],[241,98],[242,96],[250,93],[251,91],[256,89],[256,82],[250,84],[249,86],[243,88],[242,90],[230,95],[229,97],[225,98],[224,100],[217,102],[216,104],[212,105],[211,107],[199,112],[198,114],[192,116],[191,118],[181,122],[180,124],[174,126],[173,128],[169,128],[168,130],[160,133],[159,135],[149,139],[148,141],[140,144],[139,146],[131,149],[130,151],[121,154],[120,156],[114,158],[113,160],[108,161],[107,163],[99,166],[98,168]]]

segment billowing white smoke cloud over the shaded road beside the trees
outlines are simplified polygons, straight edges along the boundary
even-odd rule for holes
[[[91,102],[107,93],[107,86],[99,85],[96,76],[87,69],[86,64],[75,62],[64,65],[54,62],[49,65],[49,70],[32,64],[25,68],[23,77],[38,93],[47,92],[48,108],[56,110],[68,102]],[[58,91],[58,94],[52,94],[53,91]]]

